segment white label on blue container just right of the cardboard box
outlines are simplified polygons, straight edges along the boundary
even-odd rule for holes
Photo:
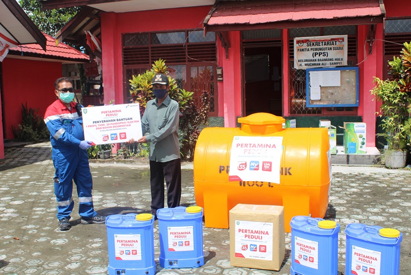
[[[318,242],[295,236],[294,261],[303,266],[318,269]]]

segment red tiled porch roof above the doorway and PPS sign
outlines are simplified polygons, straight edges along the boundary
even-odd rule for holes
[[[381,16],[378,0],[220,1],[205,26]]]

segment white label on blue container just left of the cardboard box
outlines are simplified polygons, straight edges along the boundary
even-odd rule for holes
[[[168,227],[168,251],[194,251],[193,233],[193,226]]]

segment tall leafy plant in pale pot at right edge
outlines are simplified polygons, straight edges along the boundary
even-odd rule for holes
[[[388,62],[392,78],[383,81],[375,77],[375,87],[371,90],[371,94],[382,102],[381,127],[385,132],[382,136],[388,142],[385,166],[389,168],[406,166],[410,143],[405,125],[410,118],[411,45],[404,43],[404,46],[401,58],[394,56],[394,60]]]

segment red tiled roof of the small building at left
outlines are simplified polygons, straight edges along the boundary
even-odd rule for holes
[[[39,44],[26,44],[9,48],[9,50],[15,50],[20,52],[23,51],[23,55],[25,52],[29,52],[47,57],[60,57],[64,59],[84,59],[85,62],[89,61],[89,56],[87,54],[84,54],[81,51],[71,46],[68,46],[64,43],[59,43],[56,46],[55,39],[53,37],[45,33],[43,34],[47,39],[46,50],[42,49],[42,47]]]

